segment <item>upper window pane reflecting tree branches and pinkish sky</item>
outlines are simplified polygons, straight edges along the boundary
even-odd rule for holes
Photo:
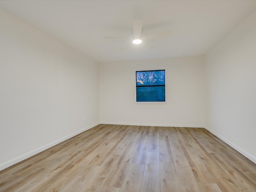
[[[164,70],[136,71],[136,86],[164,85]]]

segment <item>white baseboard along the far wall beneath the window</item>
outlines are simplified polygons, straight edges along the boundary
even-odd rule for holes
[[[202,126],[202,125],[180,125],[180,124],[122,123],[122,122],[100,122],[100,124],[134,125],[134,126],[159,126],[159,127],[192,127],[192,128],[204,128],[204,126]]]

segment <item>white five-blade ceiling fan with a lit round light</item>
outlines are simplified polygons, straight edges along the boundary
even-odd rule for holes
[[[151,35],[141,36],[141,31],[142,31],[142,20],[134,19],[133,20],[133,34],[134,34],[133,39],[125,38],[125,37],[104,37],[104,38],[106,38],[106,39],[124,39],[124,40],[128,39],[128,40],[131,40],[131,42],[129,44],[127,44],[126,46],[124,46],[123,48],[120,49],[120,51],[124,51],[127,48],[129,48],[130,46],[132,46],[132,43],[133,44],[140,44],[142,42],[149,49],[154,49],[155,47],[152,44],[149,44],[147,42],[147,40],[162,38],[162,37],[166,37],[166,36],[171,35],[171,31],[167,30],[167,31],[154,33],[154,34],[151,34]]]

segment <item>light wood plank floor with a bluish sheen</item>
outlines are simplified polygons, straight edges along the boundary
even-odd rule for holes
[[[202,128],[98,125],[0,172],[1,192],[256,192],[256,164]]]

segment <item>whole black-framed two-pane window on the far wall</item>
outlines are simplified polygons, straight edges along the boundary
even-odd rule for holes
[[[165,102],[165,70],[136,71],[136,102]]]

